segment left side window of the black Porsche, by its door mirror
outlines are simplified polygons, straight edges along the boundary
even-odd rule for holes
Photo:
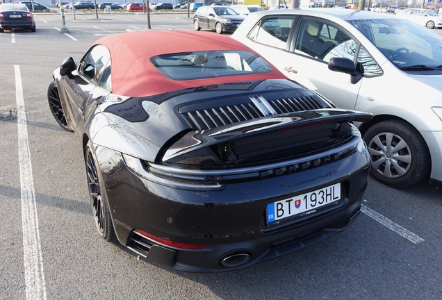
[[[89,81],[98,84],[99,76],[103,74],[104,67],[111,59],[106,47],[97,45],[83,57],[79,64],[79,73]]]

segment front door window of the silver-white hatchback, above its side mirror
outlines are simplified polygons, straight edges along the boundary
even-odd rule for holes
[[[354,61],[357,43],[340,29],[318,19],[303,19],[297,35],[295,53],[318,58],[328,63],[330,58]]]

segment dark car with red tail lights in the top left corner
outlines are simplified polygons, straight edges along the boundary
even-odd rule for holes
[[[32,12],[23,3],[0,4],[0,33],[5,29],[30,29],[35,32],[35,22]]]

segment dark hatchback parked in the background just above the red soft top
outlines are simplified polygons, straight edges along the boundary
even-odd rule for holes
[[[214,29],[216,33],[236,31],[245,17],[238,15],[235,10],[225,6],[203,6],[193,15],[193,28]]]

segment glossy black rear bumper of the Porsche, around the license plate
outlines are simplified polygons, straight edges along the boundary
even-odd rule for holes
[[[359,149],[360,150],[360,149]],[[133,174],[122,154],[97,147],[118,240],[138,255],[185,272],[225,272],[282,256],[343,231],[359,214],[367,187],[370,157],[354,151],[341,160],[299,173],[226,183],[220,190],[186,190]],[[265,222],[268,203],[335,183],[342,201],[308,217]],[[168,247],[140,238],[139,229],[165,240],[204,244],[200,250]],[[140,247],[140,244],[142,245]],[[242,264],[223,266],[230,256]],[[246,261],[245,258],[248,258]],[[228,259],[229,260],[229,259]],[[233,260],[229,260],[234,262]]]

